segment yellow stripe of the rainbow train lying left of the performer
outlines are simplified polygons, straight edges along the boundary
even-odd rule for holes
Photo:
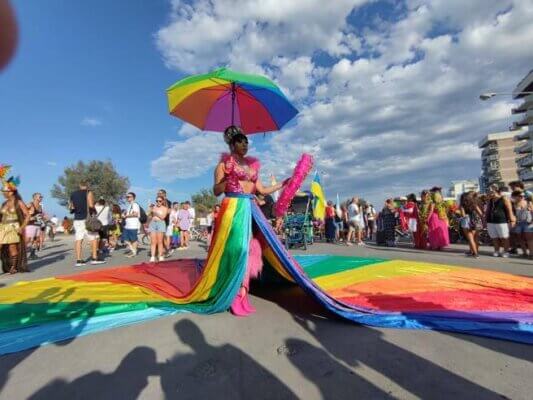
[[[1,304],[75,301],[130,303],[138,301],[170,301],[170,299],[141,286],[109,282],[80,282],[55,278],[20,282],[0,290]]]

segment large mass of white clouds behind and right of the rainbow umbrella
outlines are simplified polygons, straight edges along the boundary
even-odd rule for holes
[[[531,68],[533,3],[408,0],[394,18],[378,12],[363,21],[364,3],[336,1],[324,12],[321,1],[176,1],[156,38],[170,68],[264,73],[297,103],[296,125],[266,141],[265,173],[289,174],[307,151],[330,195],[357,191],[380,201],[476,178],[477,142],[512,121],[510,99],[478,96],[511,91]],[[219,29],[203,28],[211,23]],[[180,137],[154,161],[154,175],[166,176],[162,159],[174,176],[213,168],[220,135],[184,127]],[[201,165],[193,165],[199,150],[172,161],[191,146],[205,149]]]

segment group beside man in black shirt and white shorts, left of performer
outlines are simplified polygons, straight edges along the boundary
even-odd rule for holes
[[[189,247],[189,231],[195,219],[189,201],[171,202],[167,192],[160,189],[154,203],[145,211],[136,201],[136,194],[126,194],[126,204],[108,205],[105,199],[95,201],[87,183],[70,197],[70,210],[74,214],[76,266],[85,265],[82,257],[83,241],[91,244],[91,264],[101,264],[113,251],[123,246],[126,256],[138,255],[139,234],[149,237],[150,262],[163,261],[174,250]],[[94,220],[94,226],[88,221]]]

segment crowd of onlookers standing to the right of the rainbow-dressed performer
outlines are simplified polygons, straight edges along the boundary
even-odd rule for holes
[[[492,241],[494,257],[521,253],[533,259],[533,198],[520,181],[509,187],[491,185],[486,194],[463,193],[458,202],[445,201],[440,187],[387,199],[376,212],[372,204],[353,197],[334,205],[328,202],[325,236],[328,242],[396,246],[400,237],[410,237],[417,249],[442,250],[450,245],[456,230],[469,245],[468,256],[479,257],[480,236]]]

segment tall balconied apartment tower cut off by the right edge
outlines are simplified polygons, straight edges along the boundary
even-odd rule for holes
[[[511,126],[511,131],[522,129],[515,135],[515,153],[517,156],[518,179],[524,182],[526,187],[533,188],[533,70],[522,79],[513,90],[515,100],[523,100],[523,103],[512,110],[519,119]]]

